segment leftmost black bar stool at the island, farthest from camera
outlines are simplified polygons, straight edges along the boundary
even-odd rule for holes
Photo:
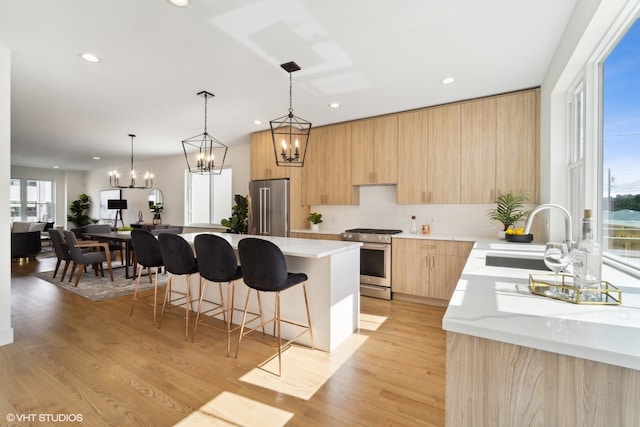
[[[141,228],[137,228],[131,231],[131,244],[133,245],[133,251],[136,254],[136,262],[143,268],[138,269],[136,290],[133,292],[133,303],[131,304],[131,312],[129,313],[129,316],[133,316],[133,309],[136,306],[136,301],[151,296],[147,295],[144,297],[138,297],[138,289],[140,288],[140,278],[142,276],[142,270],[144,270],[144,268],[146,267],[147,275],[149,276],[149,282],[151,283],[151,268],[154,268],[153,325],[155,326],[156,312],[158,308],[158,271],[164,265],[164,262],[162,261],[162,253],[160,252],[160,243],[153,234]]]

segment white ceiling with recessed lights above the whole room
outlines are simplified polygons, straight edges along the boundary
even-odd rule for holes
[[[89,170],[541,84],[576,0],[0,0],[12,164]],[[87,63],[91,52],[102,62]],[[442,85],[444,77],[453,85]],[[340,109],[328,104],[339,102]],[[262,120],[262,125],[253,121]],[[313,138],[313,131],[312,131]],[[101,160],[92,160],[100,156]]]

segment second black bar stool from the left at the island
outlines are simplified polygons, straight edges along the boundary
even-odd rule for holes
[[[176,304],[176,307],[180,307],[184,303],[184,339],[186,341],[189,339],[189,319],[191,318],[190,311],[191,303],[193,302],[191,299],[191,276],[198,272],[198,262],[193,254],[191,245],[177,234],[160,234],[158,236],[158,243],[160,244],[160,253],[164,261],[164,268],[167,273],[169,273],[158,329],[162,326],[162,319],[167,309],[167,303],[179,303]],[[187,276],[187,289],[185,292],[175,291],[173,289],[174,276]],[[179,296],[169,300],[171,294],[178,294]]]

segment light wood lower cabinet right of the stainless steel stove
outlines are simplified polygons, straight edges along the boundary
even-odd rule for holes
[[[471,242],[394,238],[391,245],[393,298],[448,302],[472,246]]]

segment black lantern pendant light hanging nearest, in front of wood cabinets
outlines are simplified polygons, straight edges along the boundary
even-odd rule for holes
[[[291,73],[300,70],[295,62],[280,65],[289,73],[289,113],[271,120],[271,137],[276,165],[289,167],[304,166],[304,158],[309,145],[311,123],[293,115],[293,84]]]

